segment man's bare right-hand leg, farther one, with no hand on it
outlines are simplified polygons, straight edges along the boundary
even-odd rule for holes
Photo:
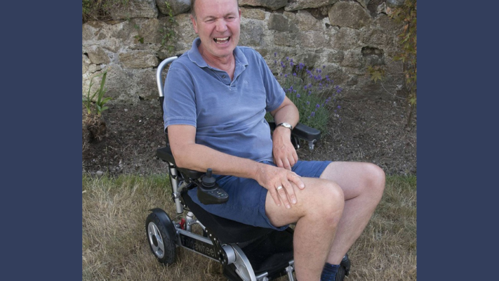
[[[320,178],[339,184],[345,196],[343,215],[337,226],[327,261],[339,265],[341,258],[361,236],[385,189],[385,172],[364,162],[332,162]]]

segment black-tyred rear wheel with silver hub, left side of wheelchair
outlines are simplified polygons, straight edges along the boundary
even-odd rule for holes
[[[158,261],[165,265],[171,265],[175,262],[176,246],[175,242],[167,235],[167,225],[156,213],[151,212],[145,220],[145,234],[151,252],[158,258]]]

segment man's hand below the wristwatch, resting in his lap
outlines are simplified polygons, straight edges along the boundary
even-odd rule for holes
[[[277,167],[291,171],[291,167],[298,161],[296,149],[291,143],[291,130],[287,127],[276,127],[272,134],[273,162]]]

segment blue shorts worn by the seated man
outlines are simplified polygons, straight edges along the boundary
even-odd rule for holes
[[[302,177],[319,178],[330,162],[299,160],[291,169]],[[271,161],[264,161],[263,163],[276,166]],[[256,180],[238,178],[232,175],[215,175],[215,178],[217,178],[217,184],[229,195],[229,200],[224,204],[202,204],[197,199],[197,187],[188,191],[188,195],[193,201],[204,210],[219,217],[261,228],[273,228],[275,230],[287,228],[287,225],[276,227],[270,223],[265,214],[267,189],[260,186]]]

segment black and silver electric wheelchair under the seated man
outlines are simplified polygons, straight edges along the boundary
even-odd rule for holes
[[[160,108],[164,102],[162,71],[180,55],[163,60],[156,71],[156,83],[160,95]],[[269,123],[271,129],[275,123]],[[300,140],[309,149],[319,140],[320,132],[303,124],[297,124],[292,132],[295,148]],[[156,158],[167,162],[171,181],[171,197],[175,202],[176,217],[173,221],[167,212],[153,208],[145,221],[145,232],[151,252],[159,262],[170,265],[175,262],[177,247],[197,252],[220,262],[223,275],[233,281],[267,281],[287,276],[293,278],[293,228],[277,231],[259,228],[218,217],[197,205],[187,191],[198,187],[197,197],[203,204],[223,204],[228,195],[217,186],[211,169],[206,173],[177,167],[167,146],[156,150]],[[303,141],[302,141],[303,142]],[[202,228],[202,235],[193,232],[193,225]],[[342,281],[350,272],[348,255],[343,257],[337,280]]]

